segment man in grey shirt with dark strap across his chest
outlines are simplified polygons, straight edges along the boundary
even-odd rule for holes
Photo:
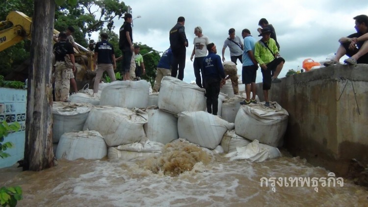
[[[234,28],[230,28],[229,29],[229,37],[226,38],[225,42],[224,42],[224,46],[222,48],[222,61],[225,62],[225,49],[226,47],[229,47],[230,49],[230,59],[232,62],[234,62],[235,64],[237,64],[237,59],[239,59],[239,61],[241,63],[243,63],[241,55],[243,54],[243,42],[240,40],[240,38],[235,35],[235,29]]]

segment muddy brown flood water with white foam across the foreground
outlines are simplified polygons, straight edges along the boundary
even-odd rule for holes
[[[253,163],[211,155],[176,177],[155,174],[144,160],[58,160],[41,172],[0,169],[0,186],[20,185],[18,206],[368,206],[368,191],[344,179],[343,187],[260,186],[262,177],[326,177],[305,159],[283,157]]]

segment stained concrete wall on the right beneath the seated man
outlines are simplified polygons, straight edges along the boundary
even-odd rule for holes
[[[281,79],[272,84],[269,100],[289,112],[284,146],[292,155],[342,176],[352,158],[368,163],[368,65],[335,65]],[[257,87],[262,101],[262,83]]]

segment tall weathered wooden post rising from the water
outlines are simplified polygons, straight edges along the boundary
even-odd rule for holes
[[[54,16],[54,0],[34,0],[23,170],[40,171],[54,166],[51,83]]]

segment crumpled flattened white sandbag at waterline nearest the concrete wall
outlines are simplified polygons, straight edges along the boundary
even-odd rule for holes
[[[236,152],[225,156],[230,157],[230,160],[248,159],[252,162],[263,162],[267,159],[279,157],[281,153],[276,147],[261,144],[258,140],[254,140],[244,147],[237,147]]]

